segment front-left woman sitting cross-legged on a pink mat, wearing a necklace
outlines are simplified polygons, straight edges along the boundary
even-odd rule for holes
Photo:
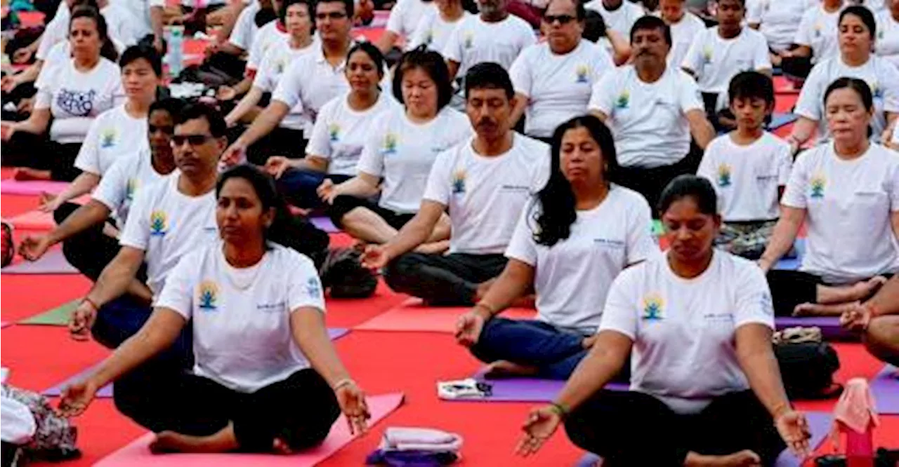
[[[97,390],[168,348],[192,325],[192,374],[147,381],[135,421],[161,452],[290,453],[325,440],[340,412],[351,431],[369,412],[325,330],[325,299],[312,260],[275,242],[274,181],[248,165],[216,187],[221,242],[184,256],[149,321],[85,382],[66,389],[66,416]]]

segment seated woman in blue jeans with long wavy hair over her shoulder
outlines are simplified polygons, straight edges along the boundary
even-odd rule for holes
[[[595,341],[612,281],[658,253],[649,205],[613,183],[617,169],[615,142],[599,119],[556,128],[549,181],[522,213],[509,263],[458,321],[459,343],[492,364],[490,374],[567,379]],[[537,321],[496,317],[531,286]]]

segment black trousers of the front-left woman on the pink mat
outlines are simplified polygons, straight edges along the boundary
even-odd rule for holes
[[[129,400],[117,401],[125,415],[156,433],[191,436],[209,436],[233,423],[243,452],[270,452],[276,437],[293,450],[320,445],[340,415],[331,386],[311,368],[252,393],[186,372],[141,376],[128,382]]]

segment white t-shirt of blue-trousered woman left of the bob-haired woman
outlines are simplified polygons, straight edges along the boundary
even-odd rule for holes
[[[369,137],[369,130],[381,114],[397,105],[386,92],[382,92],[369,110],[356,111],[350,108],[347,101],[349,95],[344,93],[322,106],[306,146],[306,154],[328,160],[329,175],[352,177],[357,173],[356,165]]]

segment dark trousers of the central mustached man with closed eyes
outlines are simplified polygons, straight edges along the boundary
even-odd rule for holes
[[[477,286],[503,272],[502,254],[406,253],[387,265],[384,280],[396,292],[442,306],[475,304]]]

